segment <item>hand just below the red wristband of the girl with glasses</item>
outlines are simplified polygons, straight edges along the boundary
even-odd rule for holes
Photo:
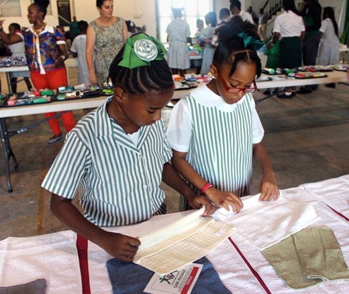
[[[238,213],[241,211],[243,204],[241,199],[232,192],[224,192],[215,188],[209,188],[205,194],[214,203],[215,206],[224,207],[229,212],[229,206],[233,207],[233,212]]]

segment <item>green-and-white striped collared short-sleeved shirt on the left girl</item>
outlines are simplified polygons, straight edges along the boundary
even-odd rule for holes
[[[162,171],[172,156],[162,119],[142,127],[135,146],[108,116],[110,99],[67,134],[41,184],[64,198],[77,194],[84,217],[98,226],[151,218],[165,198]]]

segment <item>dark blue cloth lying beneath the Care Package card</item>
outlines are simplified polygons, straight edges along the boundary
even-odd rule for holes
[[[196,281],[192,293],[231,293],[222,283],[213,265],[203,257],[194,263],[202,264],[203,268]],[[145,293],[144,288],[154,275],[154,272],[135,263],[124,263],[116,258],[107,261],[109,278],[113,294]]]

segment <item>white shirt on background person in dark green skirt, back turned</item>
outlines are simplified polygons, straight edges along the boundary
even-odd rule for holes
[[[302,31],[305,31],[303,19],[293,11],[284,11],[280,14],[274,23],[274,32],[280,33],[281,37],[299,37]]]

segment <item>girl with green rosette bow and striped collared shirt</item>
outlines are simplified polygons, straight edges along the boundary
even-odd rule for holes
[[[142,222],[163,212],[163,180],[195,208],[206,205],[168,163],[172,152],[161,109],[173,95],[171,71],[159,40],[144,33],[126,40],[109,70],[114,95],[71,130],[42,187],[52,212],[71,230],[122,261],[133,260],[140,241],[100,226]],[[142,78],[139,78],[142,77]],[[71,203],[75,196],[84,216]]]

